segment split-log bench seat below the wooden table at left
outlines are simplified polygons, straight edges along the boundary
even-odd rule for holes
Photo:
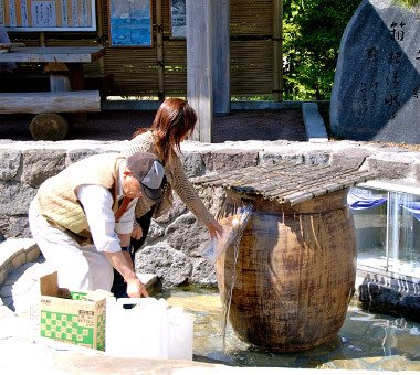
[[[101,111],[98,90],[0,93],[0,114]]]

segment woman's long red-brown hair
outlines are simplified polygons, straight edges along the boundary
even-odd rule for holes
[[[186,100],[170,98],[160,105],[151,127],[138,129],[133,137],[153,130],[158,157],[166,163],[175,150],[180,151],[182,138],[193,131],[196,122],[197,114]]]

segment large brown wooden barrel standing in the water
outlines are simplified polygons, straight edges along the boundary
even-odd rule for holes
[[[228,199],[241,196],[228,193]],[[297,352],[336,338],[354,292],[356,242],[347,190],[291,206],[255,199],[239,243],[217,261],[238,336],[271,352]]]

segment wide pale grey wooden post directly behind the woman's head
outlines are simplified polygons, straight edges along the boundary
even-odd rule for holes
[[[211,71],[211,4],[187,0],[187,98],[197,110],[193,140],[211,142],[213,92]]]

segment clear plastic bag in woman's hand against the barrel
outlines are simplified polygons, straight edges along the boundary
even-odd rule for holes
[[[214,265],[228,247],[242,234],[251,213],[251,204],[224,202],[222,211],[218,215],[218,222],[223,228],[223,234],[212,238],[201,255]]]

